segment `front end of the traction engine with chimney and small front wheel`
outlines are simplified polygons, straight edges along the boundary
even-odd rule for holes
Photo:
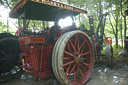
[[[107,15],[108,13],[105,13],[100,17],[100,21],[96,33],[94,33],[93,16],[89,16],[90,30],[83,30],[83,31],[87,33],[88,36],[91,36],[95,61],[99,62],[100,57],[104,56],[106,65],[112,66],[113,65],[113,48],[111,46],[112,40],[111,37],[105,37],[105,40],[103,37]],[[103,43],[105,42],[106,42],[105,54],[103,54],[101,53],[101,51],[103,50]]]

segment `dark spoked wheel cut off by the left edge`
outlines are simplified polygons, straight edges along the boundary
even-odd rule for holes
[[[9,33],[0,34],[0,78],[9,78],[21,71],[19,41]]]

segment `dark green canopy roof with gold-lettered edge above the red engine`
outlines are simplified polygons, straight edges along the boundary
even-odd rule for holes
[[[86,10],[51,0],[19,0],[12,8],[11,18],[23,18],[30,20],[54,21],[67,16],[76,16],[79,13],[87,13]]]

